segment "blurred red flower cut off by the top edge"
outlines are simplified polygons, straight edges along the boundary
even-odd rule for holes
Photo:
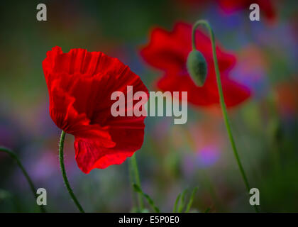
[[[275,7],[271,0],[220,0],[219,4],[228,13],[242,9],[249,10],[250,4],[258,4],[265,18],[274,20],[276,17]]]

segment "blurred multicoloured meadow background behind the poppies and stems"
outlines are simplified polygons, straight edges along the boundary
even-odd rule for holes
[[[47,190],[48,211],[76,212],[58,162],[60,129],[49,115],[41,65],[46,52],[56,45],[63,52],[104,52],[156,91],[162,72],[139,53],[150,31],[205,18],[221,46],[236,55],[231,77],[252,92],[229,114],[250,186],[260,190],[261,211],[297,212],[298,2],[270,2],[274,16],[261,10],[260,21],[252,22],[248,7],[225,11],[220,1],[1,1],[0,145],[15,151],[35,186]],[[36,20],[39,3],[47,6],[46,22]],[[183,189],[198,187],[191,211],[253,212],[218,107],[189,104],[184,125],[171,117],[148,117],[145,125],[136,153],[141,186],[161,211],[172,211]],[[128,161],[85,175],[75,162],[73,140],[66,136],[65,166],[85,211],[131,211]],[[0,211],[39,211],[21,170],[4,153]]]

